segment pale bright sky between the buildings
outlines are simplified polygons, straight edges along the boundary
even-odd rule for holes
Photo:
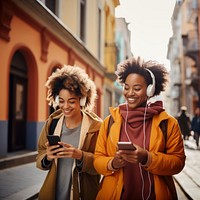
[[[167,59],[172,36],[171,17],[176,0],[120,0],[116,17],[123,17],[131,31],[131,51],[145,60],[157,60],[170,69]]]

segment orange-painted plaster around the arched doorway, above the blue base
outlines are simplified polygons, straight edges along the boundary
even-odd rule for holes
[[[6,98],[0,98],[0,103],[2,106],[0,112],[0,119],[7,120],[8,119],[8,96],[9,96],[9,73],[10,73],[10,62],[12,56],[18,48],[24,48],[29,50],[36,61],[36,65],[33,66],[36,69],[33,70],[37,72],[37,81],[38,83],[31,83],[34,86],[34,91],[31,91],[32,95],[29,96],[29,101],[31,101],[31,96],[37,96],[36,105],[33,106],[31,103],[28,105],[28,120],[29,121],[44,121],[48,116],[48,106],[46,101],[46,87],[45,82],[48,76],[51,73],[49,68],[53,68],[55,65],[63,65],[69,63],[69,52],[66,49],[63,49],[63,46],[56,44],[53,38],[50,38],[47,62],[42,61],[41,58],[41,34],[37,29],[31,27],[29,24],[22,21],[20,18],[14,16],[11,24],[10,31],[10,41],[5,42],[4,40],[0,40],[0,45],[4,51],[2,51],[2,57],[4,59],[0,60],[0,73],[2,78],[0,79],[1,85],[4,85],[0,90],[0,95],[5,95]],[[19,28],[20,27],[20,28]],[[28,33],[28,34],[27,34]],[[11,52],[11,53],[9,53]],[[56,59],[55,59],[56,58]],[[27,62],[29,66],[30,63]],[[81,62],[80,59],[75,60],[75,65],[78,65],[82,68],[85,68],[87,71],[86,63]],[[29,69],[31,70],[31,69]],[[30,76],[33,75],[30,73]],[[92,78],[92,77],[91,77]],[[30,79],[29,79],[30,80]],[[101,88],[101,87],[100,87]],[[29,88],[30,89],[30,88]],[[29,91],[30,93],[30,91]],[[34,95],[35,94],[35,95]],[[37,111],[33,111],[33,109],[37,109]],[[31,113],[36,113],[32,115]]]

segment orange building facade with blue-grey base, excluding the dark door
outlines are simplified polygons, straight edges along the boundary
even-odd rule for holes
[[[14,5],[12,1],[9,4],[11,4],[11,7]],[[10,7],[8,10],[3,10],[5,15],[9,13],[9,9]],[[52,31],[49,25],[47,25],[48,30],[45,27],[46,24],[43,24],[44,21],[33,18],[32,15],[17,8],[16,5],[14,5],[14,11],[10,15],[10,24],[7,24],[3,19],[0,20],[6,24],[4,24],[4,28],[8,26],[8,31],[5,33],[6,37],[0,35],[0,157],[7,155],[9,151],[8,147],[11,146],[10,141],[13,138],[13,135],[9,136],[9,125],[11,122],[9,119],[9,82],[10,66],[16,51],[20,51],[26,60],[28,78],[28,91],[26,95],[27,116],[24,119],[26,129],[24,129],[24,132],[26,136],[23,137],[26,143],[23,148],[30,150],[36,150],[37,148],[40,131],[49,115],[45,83],[55,67],[66,64],[77,65],[85,69],[97,86],[100,98],[97,101],[95,112],[102,117],[101,95],[104,83],[104,71],[101,64],[95,60],[87,49],[82,48],[79,41],[75,38],[73,39],[67,32],[65,33],[66,36],[72,38],[72,40],[68,38],[65,42],[62,34],[59,35],[57,32]],[[0,31],[3,33],[3,29]]]

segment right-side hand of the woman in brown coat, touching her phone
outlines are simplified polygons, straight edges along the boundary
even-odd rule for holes
[[[63,146],[62,150],[57,153],[58,158],[74,158],[77,160],[81,160],[83,153],[80,149],[75,148],[71,144],[67,144],[64,142],[59,142]]]

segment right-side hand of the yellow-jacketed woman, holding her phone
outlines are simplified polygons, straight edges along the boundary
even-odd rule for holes
[[[148,159],[147,151],[138,145],[134,144],[134,146],[136,146],[136,150],[119,150],[117,154],[129,163],[141,163],[145,165]]]

